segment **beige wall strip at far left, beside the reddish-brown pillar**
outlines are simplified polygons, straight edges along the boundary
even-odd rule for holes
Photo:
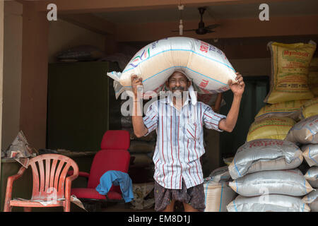
[[[16,138],[20,128],[22,11],[22,4],[4,1],[3,150]]]

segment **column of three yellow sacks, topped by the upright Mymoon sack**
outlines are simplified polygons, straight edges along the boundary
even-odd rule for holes
[[[271,90],[249,128],[247,141],[261,138],[283,140],[300,118],[301,107],[314,95],[308,87],[310,62],[316,43],[269,42]]]

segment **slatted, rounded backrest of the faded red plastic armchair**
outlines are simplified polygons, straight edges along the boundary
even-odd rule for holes
[[[64,155],[45,154],[29,161],[33,171],[32,199],[64,198],[65,179],[69,168],[78,175],[78,165]]]

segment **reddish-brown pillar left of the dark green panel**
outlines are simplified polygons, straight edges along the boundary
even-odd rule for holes
[[[46,12],[23,4],[20,129],[34,148],[45,148],[49,21]]]

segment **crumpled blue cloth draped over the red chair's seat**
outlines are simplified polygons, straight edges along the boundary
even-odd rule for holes
[[[114,186],[120,186],[122,191],[122,198],[124,198],[125,203],[128,203],[134,199],[134,193],[132,190],[132,182],[128,174],[125,172],[120,172],[117,170],[110,170],[102,174],[100,177],[100,184],[96,187],[101,195],[106,195],[110,188]]]

